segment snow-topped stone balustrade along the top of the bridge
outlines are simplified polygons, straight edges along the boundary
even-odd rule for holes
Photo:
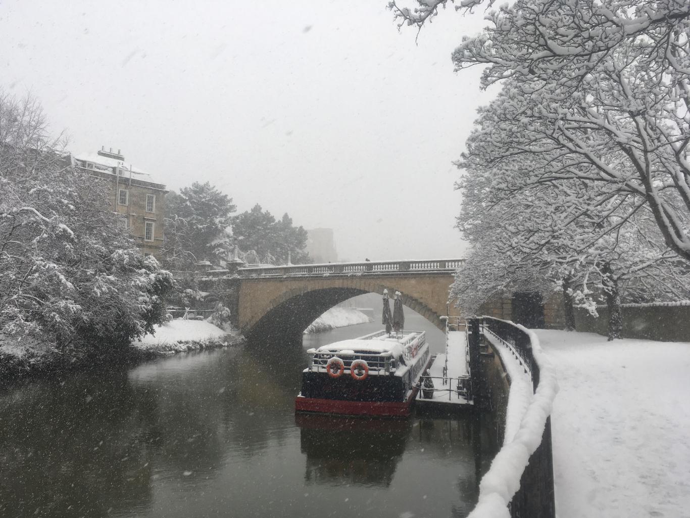
[[[242,277],[291,277],[310,275],[359,275],[359,274],[392,274],[453,272],[460,268],[462,259],[404,260],[404,261],[364,261],[364,262],[328,262],[320,265],[289,265],[272,267],[239,268],[237,273]]]

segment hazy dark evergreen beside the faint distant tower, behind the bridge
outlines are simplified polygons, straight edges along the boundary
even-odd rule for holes
[[[250,211],[235,216],[233,237],[243,251],[253,250],[259,258],[270,264],[284,265],[290,260],[294,264],[309,262],[306,248],[307,232],[295,227],[288,214],[276,221],[273,215],[256,204]]]

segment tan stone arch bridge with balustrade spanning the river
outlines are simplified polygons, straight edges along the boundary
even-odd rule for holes
[[[250,340],[292,340],[327,309],[356,295],[402,293],[404,305],[445,329],[462,260],[348,262],[239,268],[235,325]]]

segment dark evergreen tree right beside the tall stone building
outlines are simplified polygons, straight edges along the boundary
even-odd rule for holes
[[[169,193],[166,205],[166,265],[186,269],[201,260],[218,264],[228,256],[237,209],[232,198],[209,182],[194,182],[179,194]]]

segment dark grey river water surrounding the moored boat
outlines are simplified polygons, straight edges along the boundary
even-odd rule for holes
[[[0,517],[464,517],[490,423],[295,416],[306,348],[379,328],[0,392]],[[406,328],[442,350],[421,316]]]

